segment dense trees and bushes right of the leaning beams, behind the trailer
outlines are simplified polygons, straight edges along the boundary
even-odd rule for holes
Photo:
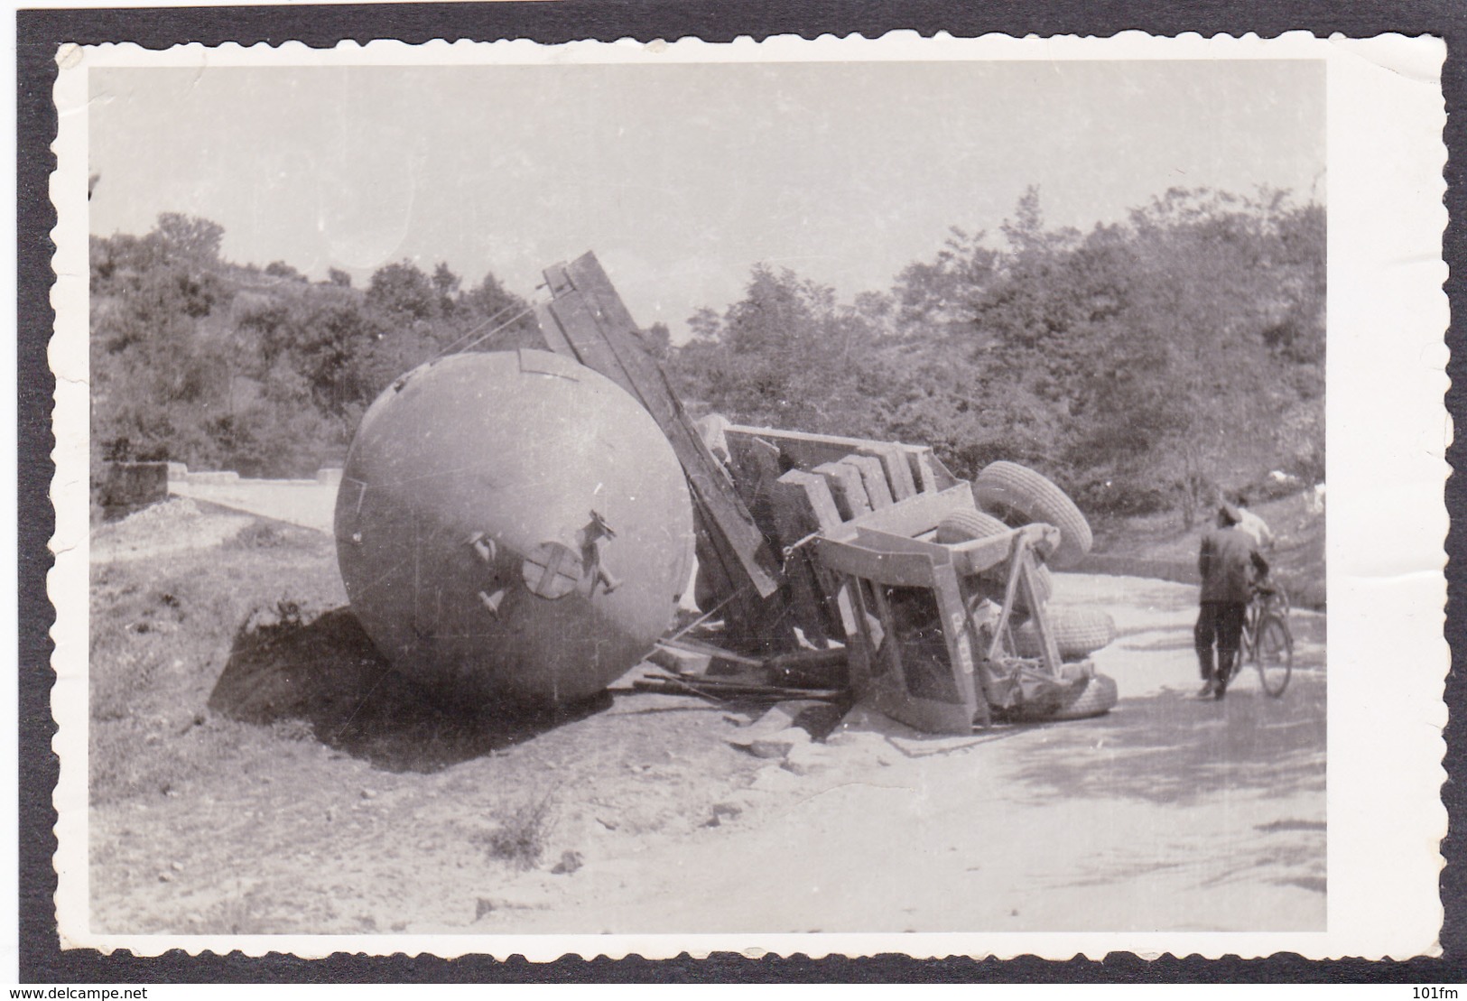
[[[926,442],[962,476],[1015,459],[1094,511],[1191,524],[1219,487],[1323,474],[1325,213],[1281,194],[1171,191],[1081,235],[1031,189],[890,295],[760,266],[692,326],[675,380],[735,420]]]

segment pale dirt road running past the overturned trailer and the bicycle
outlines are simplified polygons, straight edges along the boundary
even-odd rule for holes
[[[1133,630],[1102,719],[932,738],[858,713],[739,822],[603,842],[503,931],[1292,931],[1325,922],[1322,671],[1191,697],[1188,589],[1061,575]],[[1322,666],[1322,650],[1306,644]]]

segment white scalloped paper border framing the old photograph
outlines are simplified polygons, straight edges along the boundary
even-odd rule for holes
[[[87,650],[88,650],[88,72],[110,66],[512,65],[855,60],[1320,60],[1328,88],[1328,931],[1309,933],[736,933],[736,935],[100,935],[88,926]],[[51,693],[60,756],[56,913],[66,948],[126,948],[156,956],[241,950],[320,957],[337,951],[440,957],[522,954],[553,960],[648,958],[738,951],[912,957],[1034,954],[1100,958],[1219,957],[1298,953],[1309,958],[1407,958],[1439,954],[1439,841],[1445,781],[1442,702],[1449,650],[1442,499],[1452,437],[1444,405],[1449,321],[1442,282],[1442,170],[1446,122],[1441,87],[1445,44],[1385,35],[1262,40],[1182,35],[1153,38],[1012,38],[948,35],[882,38],[776,37],[706,44],[695,38],[641,44],[533,41],[406,46],[373,41],[310,48],[198,44],[151,51],[138,46],[63,46],[54,88],[59,166],[51,198],[56,239],[56,476],[51,502],[56,606]]]

